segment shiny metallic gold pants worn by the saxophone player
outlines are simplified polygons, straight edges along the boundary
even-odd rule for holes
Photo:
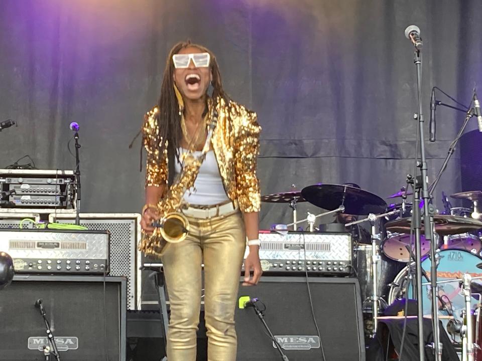
[[[196,359],[204,263],[204,319],[209,361],[235,361],[234,308],[246,249],[239,211],[210,219],[188,218],[189,235],[162,257],[171,303],[167,337],[169,361]]]

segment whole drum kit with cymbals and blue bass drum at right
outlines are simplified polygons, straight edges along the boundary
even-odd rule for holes
[[[366,216],[359,220],[353,220],[355,218],[352,217],[349,223],[343,223],[347,232],[355,226],[359,227],[362,223],[370,224],[370,244],[362,244],[360,239],[353,240],[353,260],[355,260],[353,268],[362,290],[363,311],[365,315],[371,313],[369,317],[365,317],[368,322],[365,325],[366,332],[373,337],[377,331],[377,319],[383,315],[387,305],[399,298],[415,298],[413,285],[410,285],[409,281],[414,273],[415,250],[415,237],[411,225],[412,204],[406,202],[409,195],[411,193],[402,188],[400,192],[386,198],[387,200],[401,199],[402,202],[388,205],[381,197],[360,188],[317,184],[301,191],[266,195],[262,197],[262,201],[288,203],[293,210],[293,223],[287,226],[293,226],[293,230],[297,230],[301,223],[308,222],[309,229],[313,232],[316,228],[314,227],[316,219],[328,214]],[[433,230],[436,244],[438,244],[436,253],[439,256],[437,284],[440,283],[439,300],[442,300],[439,302],[439,311],[441,314],[453,316],[444,318],[442,323],[448,331],[452,332],[454,344],[460,344],[463,342],[460,327],[459,333],[454,333],[453,320],[450,321],[450,319],[455,319],[458,321],[456,323],[462,324],[463,317],[465,320],[470,318],[470,316],[467,317],[467,297],[462,282],[463,277],[466,277],[464,275],[469,275],[468,277],[472,279],[482,278],[482,270],[480,270],[482,268],[482,233],[479,233],[482,231],[482,215],[478,209],[482,201],[482,191],[456,193],[450,197],[471,202],[469,208],[453,208],[445,199],[443,214],[433,216]],[[309,202],[327,211],[319,215],[308,213],[306,219],[297,220],[296,208],[300,202]],[[348,218],[337,217],[337,219]],[[423,270],[428,274],[427,277],[430,277],[431,266],[429,251],[430,244],[425,242],[422,236],[421,262]],[[430,284],[427,282],[422,285],[424,315],[430,315]],[[469,288],[473,293],[477,293],[473,291],[474,287],[478,287],[476,290],[482,290],[482,285],[478,286],[477,283],[472,282],[472,287]],[[470,299],[471,313],[480,309],[481,302],[482,300],[476,300],[473,297]],[[479,318],[477,317],[476,329],[482,327],[482,323],[478,324]],[[480,340],[475,341],[482,346]]]

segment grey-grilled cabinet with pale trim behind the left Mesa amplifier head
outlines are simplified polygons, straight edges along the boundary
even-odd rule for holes
[[[139,213],[80,213],[80,224],[92,231],[109,231],[109,275],[127,278],[127,306],[137,309],[140,304],[141,252],[137,250],[141,239]],[[75,214],[50,214],[49,222],[75,223]]]

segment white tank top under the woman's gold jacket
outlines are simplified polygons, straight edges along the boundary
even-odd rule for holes
[[[181,154],[185,152],[187,152],[187,149],[179,147],[180,159],[182,159]],[[194,152],[195,156],[199,156],[200,154],[200,151]],[[177,158],[174,159],[174,168],[176,174],[181,172],[181,164]],[[206,157],[199,168],[199,174],[194,181],[194,187],[186,191],[184,200],[191,205],[199,206],[212,206],[229,201],[222,184],[222,178],[219,173],[214,151],[209,150],[206,153]]]

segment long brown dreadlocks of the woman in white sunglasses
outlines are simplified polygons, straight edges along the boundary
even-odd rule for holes
[[[161,86],[161,96],[159,97],[159,135],[163,139],[168,140],[168,152],[171,154],[177,153],[177,149],[182,141],[182,129],[181,129],[181,115],[179,114],[179,103],[177,97],[174,93],[174,63],[172,56],[179,53],[181,49],[187,47],[195,47],[199,50],[209,53],[211,61],[209,68],[212,73],[212,99],[218,97],[224,98],[226,103],[229,102],[229,96],[222,89],[221,84],[221,74],[219,73],[219,67],[217,65],[216,57],[212,52],[203,47],[202,45],[191,44],[188,40],[187,42],[180,42],[174,45],[174,47],[169,52],[169,56],[166,61],[166,68],[164,70],[164,78],[162,80]],[[160,144],[161,147],[164,144]]]

